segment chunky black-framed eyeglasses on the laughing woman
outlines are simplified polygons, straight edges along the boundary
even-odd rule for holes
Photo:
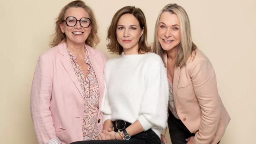
[[[76,17],[71,16],[67,17],[66,20],[63,21],[66,21],[68,26],[75,26],[77,21],[79,21],[82,27],[89,27],[91,24],[91,20],[89,18],[81,18],[80,20],[77,20]]]

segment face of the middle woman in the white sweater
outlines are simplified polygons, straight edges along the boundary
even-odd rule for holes
[[[142,34],[139,21],[132,14],[124,14],[120,17],[116,27],[116,39],[124,52],[131,49],[137,52]]]

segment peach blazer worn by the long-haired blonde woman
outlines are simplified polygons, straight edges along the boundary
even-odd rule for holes
[[[218,143],[230,117],[219,97],[212,64],[198,48],[186,66],[175,66],[173,97],[180,120],[196,134],[194,144]]]

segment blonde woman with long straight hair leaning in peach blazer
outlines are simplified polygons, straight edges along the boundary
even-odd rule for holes
[[[172,144],[216,144],[230,121],[212,64],[192,42],[185,9],[168,4],[155,24],[153,50],[169,81],[168,127]]]

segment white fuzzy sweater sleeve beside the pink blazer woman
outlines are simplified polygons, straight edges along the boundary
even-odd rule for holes
[[[111,107],[108,100],[108,95],[107,95],[106,65],[104,68],[104,94],[103,94],[102,105],[101,105],[101,114],[103,116],[103,123],[105,122],[105,120],[111,119],[111,114],[112,114]]]

